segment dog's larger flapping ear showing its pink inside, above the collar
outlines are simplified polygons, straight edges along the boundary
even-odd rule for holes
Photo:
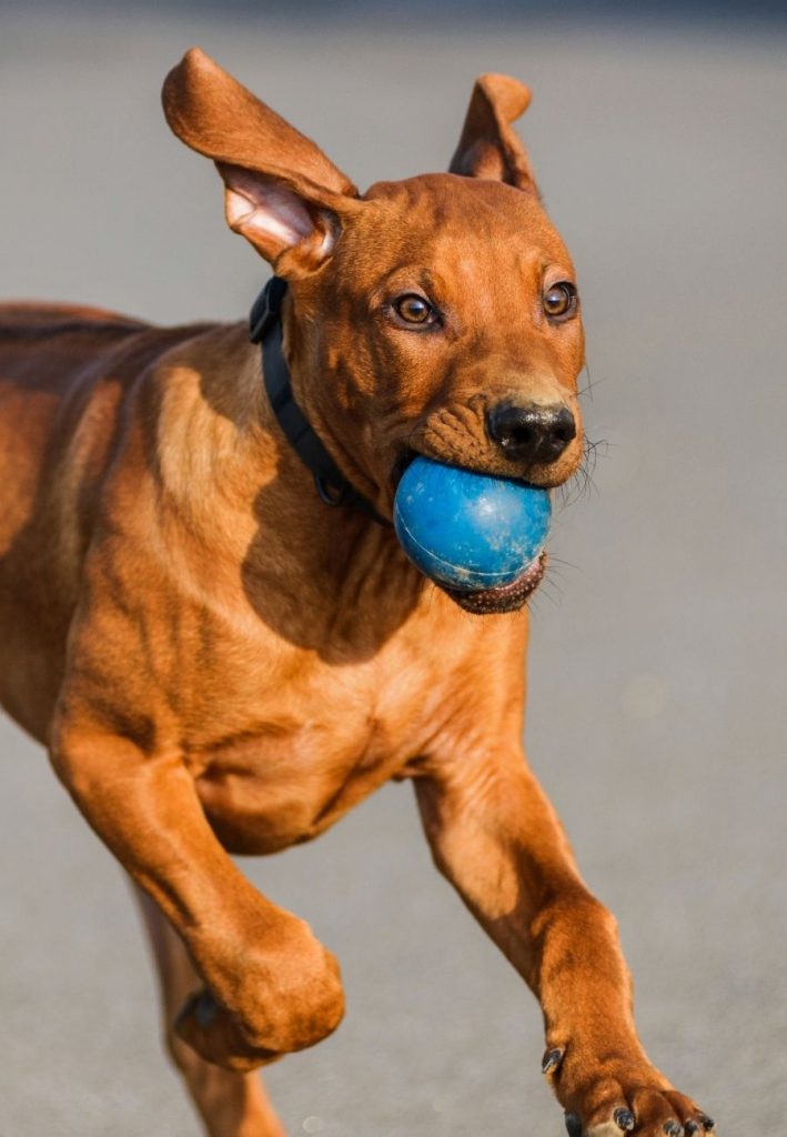
[[[199,48],[169,72],[161,101],[174,133],[216,163],[230,227],[280,275],[320,267],[342,216],[361,208],[350,180]]]

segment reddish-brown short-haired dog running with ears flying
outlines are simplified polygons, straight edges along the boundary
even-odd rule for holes
[[[528,101],[482,77],[450,174],[359,196],[200,51],[166,81],[231,227],[289,284],[296,402],[363,500],[315,492],[243,325],[2,313],[0,697],[141,890],[214,1137],[282,1134],[250,1071],[343,1010],[333,956],[226,850],[308,840],[391,778],[540,999],[569,1131],[712,1126],[648,1062],[614,921],[524,762],[540,573],[447,595],[379,523],[413,454],[542,487],[580,463],[581,321],[510,125]]]

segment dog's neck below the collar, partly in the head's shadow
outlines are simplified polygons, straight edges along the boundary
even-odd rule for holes
[[[184,575],[216,597],[240,588],[283,638],[320,654],[371,656],[426,594],[430,607],[453,608],[390,526],[320,499],[270,406],[243,325],[214,330],[209,354],[199,345],[199,371],[191,358],[187,349],[167,372],[158,423]],[[293,368],[296,396],[309,385],[304,377]]]

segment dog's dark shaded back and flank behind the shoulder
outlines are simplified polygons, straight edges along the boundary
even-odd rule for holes
[[[42,741],[130,392],[193,333],[72,305],[0,306],[0,703]]]

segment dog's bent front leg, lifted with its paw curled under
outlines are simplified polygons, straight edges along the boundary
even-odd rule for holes
[[[214,836],[177,755],[61,719],[53,765],[82,813],[185,944],[207,989],[176,1030],[202,1057],[249,1070],[339,1023],[339,968],[297,916],[246,880]]]

